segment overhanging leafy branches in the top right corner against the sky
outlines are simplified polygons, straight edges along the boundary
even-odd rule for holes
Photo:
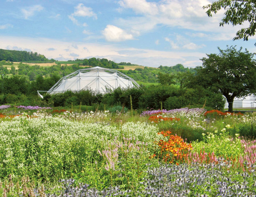
[[[249,22],[249,27],[241,28],[236,33],[233,40],[244,39],[248,40],[249,36],[255,35],[256,31],[256,2],[255,0],[218,0],[212,4],[203,6],[209,17],[212,13],[217,13],[224,8],[226,10],[225,17],[220,26],[231,23],[233,26],[241,25],[244,22]],[[256,45],[256,43],[255,43]]]

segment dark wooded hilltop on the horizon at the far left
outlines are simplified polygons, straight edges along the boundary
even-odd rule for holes
[[[54,59],[47,59],[44,55],[27,51],[5,50],[0,49],[0,61],[10,62],[54,62]]]

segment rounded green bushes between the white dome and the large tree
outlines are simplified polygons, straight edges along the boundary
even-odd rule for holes
[[[190,105],[206,106],[214,109],[223,109],[225,101],[221,94],[214,94],[202,87],[196,89],[180,89],[174,86],[150,86],[144,88],[139,100],[139,108],[160,109],[161,102],[167,110],[189,107]]]

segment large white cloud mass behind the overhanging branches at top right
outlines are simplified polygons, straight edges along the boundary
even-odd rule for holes
[[[161,0],[149,2],[147,0],[120,0],[118,4],[120,12],[124,9],[132,9],[138,16],[131,18],[120,18],[116,20],[116,25],[124,29],[139,31],[140,34],[150,31],[158,25],[164,25],[200,32],[197,37],[204,37],[205,32],[222,34],[217,36],[219,40],[230,40],[236,35],[241,26],[225,25],[219,27],[219,22],[223,18],[224,10],[208,17],[202,7],[210,4],[208,0]],[[201,33],[203,31],[204,33]],[[208,37],[208,39],[217,39]]]

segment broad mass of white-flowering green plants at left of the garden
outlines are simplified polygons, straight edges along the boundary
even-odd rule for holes
[[[133,143],[131,145],[134,147],[136,144],[140,147],[130,148],[127,152],[124,151],[126,149],[119,148],[120,157],[114,163],[117,170],[110,174],[111,171],[105,168],[108,165],[106,158],[98,150],[102,154],[103,150],[109,148],[114,151],[113,146],[123,142],[123,135],[132,138],[126,142],[128,145]],[[0,136],[1,179],[10,173],[15,178],[29,175],[42,182],[74,177],[97,188],[105,188],[113,182],[123,183],[127,188],[127,179],[120,179],[120,173],[128,176],[131,182],[135,182],[136,177],[143,178],[146,175],[143,170],[149,162],[149,152],[143,144],[152,144],[154,139],[161,139],[157,128],[146,123],[125,123],[121,128],[116,128],[112,125],[84,124],[56,117],[29,120],[26,116],[1,122]],[[137,140],[141,142],[136,143]],[[113,145],[109,147],[109,144]],[[125,142],[123,147],[125,148]],[[140,162],[139,174],[134,161]],[[128,172],[132,174],[127,174]]]

